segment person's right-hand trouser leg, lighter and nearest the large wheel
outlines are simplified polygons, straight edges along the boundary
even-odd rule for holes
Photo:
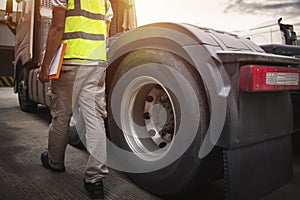
[[[77,91],[77,92],[76,92]],[[79,92],[78,92],[79,91]],[[85,170],[85,181],[96,183],[109,173],[106,162],[106,118],[105,68],[82,66],[78,70],[74,97],[78,101],[85,124],[86,148],[89,158]]]

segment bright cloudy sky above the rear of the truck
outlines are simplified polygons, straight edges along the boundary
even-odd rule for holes
[[[5,9],[5,1],[0,0],[0,9]],[[183,22],[243,31],[267,22],[276,23],[282,17],[283,23],[295,24],[300,34],[300,0],[135,0],[135,3],[138,25]]]

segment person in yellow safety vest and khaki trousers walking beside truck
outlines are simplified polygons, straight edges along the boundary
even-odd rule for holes
[[[65,171],[68,128],[76,102],[85,122],[89,152],[84,188],[92,199],[103,199],[103,179],[109,174],[105,165],[104,79],[107,67],[106,23],[110,23],[113,17],[111,4],[108,0],[52,0],[52,7],[46,52],[39,72],[41,82],[49,81],[49,65],[60,44],[67,45],[60,76],[51,80],[48,93],[52,121],[48,150],[41,154],[41,162],[53,172]]]

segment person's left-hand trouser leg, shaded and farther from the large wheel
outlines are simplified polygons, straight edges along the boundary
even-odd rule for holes
[[[73,70],[62,71],[59,79],[51,82],[48,157],[52,168],[64,168],[65,150],[68,144],[68,128],[72,116],[72,91],[76,76]]]

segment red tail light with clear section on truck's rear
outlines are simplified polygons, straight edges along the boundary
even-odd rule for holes
[[[299,90],[300,69],[246,65],[240,69],[240,89],[247,92]]]

